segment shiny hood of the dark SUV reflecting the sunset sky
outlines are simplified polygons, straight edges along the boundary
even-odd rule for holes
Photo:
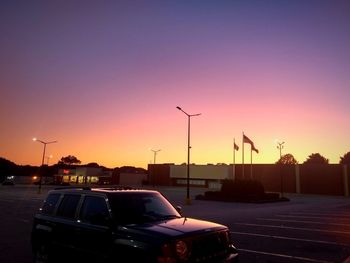
[[[185,236],[186,233],[194,234],[195,232],[203,233],[226,229],[225,226],[217,223],[186,217],[152,222],[137,226],[133,225],[129,226],[129,228],[148,232],[150,235],[157,234],[166,236]]]

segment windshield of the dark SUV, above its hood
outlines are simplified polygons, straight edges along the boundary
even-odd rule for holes
[[[113,193],[109,196],[113,216],[120,224],[146,223],[181,215],[159,193]]]

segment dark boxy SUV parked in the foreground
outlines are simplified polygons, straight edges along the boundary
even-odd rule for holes
[[[237,262],[226,226],[179,210],[158,191],[51,190],[34,217],[34,262]]]

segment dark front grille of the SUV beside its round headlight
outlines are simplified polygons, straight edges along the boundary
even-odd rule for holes
[[[192,240],[190,262],[222,262],[226,257],[228,240],[225,232],[216,232]]]

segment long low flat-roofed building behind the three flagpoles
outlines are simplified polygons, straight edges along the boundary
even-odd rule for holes
[[[190,165],[191,187],[221,188],[227,179],[262,183],[269,192],[349,196],[350,165],[342,164],[236,164]],[[150,185],[187,185],[187,165],[149,164]]]

